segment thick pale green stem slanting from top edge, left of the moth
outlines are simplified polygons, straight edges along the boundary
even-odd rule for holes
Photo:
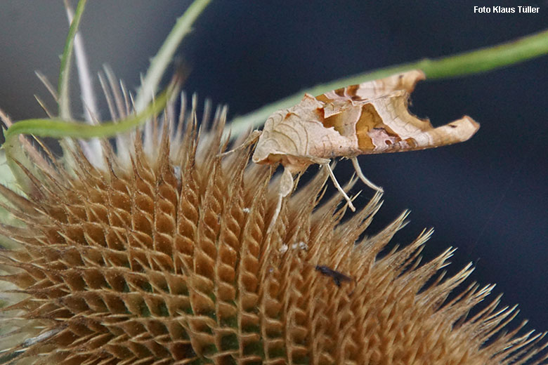
[[[193,4],[178,18],[175,26],[169,32],[164,44],[160,47],[158,53],[152,58],[147,74],[143,79],[143,85],[137,93],[135,101],[135,110],[141,111],[151,100],[165,69],[173,59],[173,55],[184,36],[192,30],[193,22],[198,15],[204,11],[204,8],[211,0],[195,0]]]

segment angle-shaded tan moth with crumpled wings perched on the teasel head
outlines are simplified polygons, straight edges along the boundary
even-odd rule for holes
[[[348,207],[355,211],[330,167],[335,157],[351,159],[358,178],[382,192],[363,175],[356,158],[360,154],[423,150],[471,138],[479,124],[470,117],[434,128],[428,119],[410,113],[410,93],[423,79],[424,72],[412,70],[316,97],[306,93],[299,104],[271,114],[263,131],[254,131],[244,143],[256,141],[252,157],[256,164],[284,166],[269,230],[278,218],[282,199],[293,190],[293,175],[311,164],[327,169]]]

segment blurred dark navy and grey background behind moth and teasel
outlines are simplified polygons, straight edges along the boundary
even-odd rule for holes
[[[81,31],[92,71],[106,62],[136,90],[139,73],[188,4],[89,1]],[[474,6],[537,6],[540,13],[478,14]],[[227,103],[235,116],[320,82],[516,39],[544,29],[547,20],[544,0],[219,0],[199,18],[179,55],[192,67],[185,89]],[[13,119],[44,117],[33,94],[54,109],[34,70],[56,84],[67,29],[60,0],[0,2],[0,106]],[[435,227],[426,258],[457,247],[448,271],[474,262],[472,280],[497,283],[503,303],[518,303],[518,318],[530,319],[528,328],[540,331],[548,330],[547,70],[543,57],[422,82],[413,94],[413,112],[434,125],[468,114],[481,123],[474,138],[360,158],[365,175],[386,192],[370,232],[410,208],[411,222],[394,241],[407,244],[423,227]],[[76,86],[73,100],[79,105]],[[341,161],[335,173],[346,182],[351,163]],[[358,190],[363,193],[356,205],[364,206],[373,192],[360,183],[353,192]]]

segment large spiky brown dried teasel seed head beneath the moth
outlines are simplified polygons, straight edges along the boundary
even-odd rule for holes
[[[216,155],[224,119],[200,141],[192,123],[151,125],[127,161],[103,141],[105,168],[80,150],[35,160],[25,196],[0,187],[20,221],[0,225],[0,364],[491,365],[542,349],[504,331],[516,312],[498,298],[467,319],[492,286],[447,300],[471,267],[431,283],[452,249],[419,265],[430,231],[376,258],[406,216],[360,240],[381,194],[343,222],[337,197],[319,202],[322,171],[267,232],[277,187],[249,151]]]

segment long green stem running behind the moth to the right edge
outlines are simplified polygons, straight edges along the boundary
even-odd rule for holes
[[[348,85],[360,84],[365,81],[381,79],[383,77],[396,74],[398,72],[410,69],[422,69],[427,79],[442,79],[448,77],[464,76],[469,74],[478,74],[480,72],[490,71],[507,65],[513,65],[523,62],[540,55],[548,53],[548,30],[524,36],[521,39],[509,41],[497,46],[481,48],[475,51],[458,53],[448,57],[417,60],[415,62],[405,63],[377,69],[372,72],[365,72],[344,79],[338,79],[327,84],[320,84],[304,91],[299,91],[294,95],[288,96],[261,107],[253,112],[235,117],[228,128],[231,130],[231,138],[237,137],[249,128],[261,126],[270,114],[276,110],[292,107],[296,105],[303,97],[304,93],[320,95],[327,91],[335,90]]]

